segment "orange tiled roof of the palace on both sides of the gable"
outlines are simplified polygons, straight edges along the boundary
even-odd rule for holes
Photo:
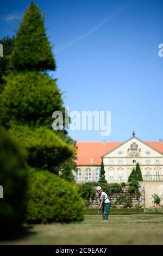
[[[77,142],[77,166],[101,165],[101,156],[118,147],[122,142]],[[163,142],[146,142],[163,153]],[[93,159],[93,162],[90,162]]]

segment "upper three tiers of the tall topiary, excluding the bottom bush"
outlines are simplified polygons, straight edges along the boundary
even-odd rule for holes
[[[28,164],[55,172],[55,167],[71,159],[76,150],[65,131],[52,130],[52,113],[64,112],[64,107],[56,80],[46,73],[55,70],[55,60],[43,22],[32,2],[15,37],[10,55],[12,72],[5,77],[0,110],[2,124],[28,149]]]

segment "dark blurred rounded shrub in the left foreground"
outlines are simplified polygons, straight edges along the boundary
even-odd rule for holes
[[[0,185],[3,187],[3,199],[0,199],[1,231],[13,230],[24,221],[28,185],[25,161],[24,150],[0,129]]]

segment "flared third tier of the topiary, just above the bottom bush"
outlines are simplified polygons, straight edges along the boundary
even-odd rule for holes
[[[75,154],[72,145],[64,142],[53,130],[46,127],[11,126],[11,132],[28,150],[28,163],[34,168],[54,167]]]

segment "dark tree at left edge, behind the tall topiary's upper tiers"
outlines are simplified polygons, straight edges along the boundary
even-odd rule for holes
[[[9,72],[9,56],[14,47],[14,39],[14,36],[12,36],[12,38],[4,36],[4,38],[0,40],[0,44],[3,45],[3,57],[0,58],[0,93],[2,93],[5,85],[3,76],[7,75]]]

